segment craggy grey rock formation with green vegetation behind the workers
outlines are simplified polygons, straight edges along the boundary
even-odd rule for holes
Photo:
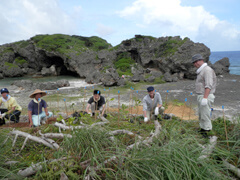
[[[189,38],[135,35],[113,47],[97,36],[54,34],[1,45],[0,78],[72,75],[105,86],[121,86],[126,79],[173,82],[195,78],[191,57],[196,53],[217,75],[229,73],[227,57],[212,65],[210,49]]]

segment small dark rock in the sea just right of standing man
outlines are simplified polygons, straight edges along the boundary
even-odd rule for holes
[[[216,75],[224,75],[229,74],[230,71],[229,66],[230,66],[229,59],[225,57],[215,62],[212,65],[212,68],[214,69]]]

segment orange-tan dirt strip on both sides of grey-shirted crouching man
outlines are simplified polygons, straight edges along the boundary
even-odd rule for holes
[[[118,108],[108,108],[107,111],[110,112],[118,112]],[[126,109],[126,111],[129,111],[131,114],[143,114],[143,107],[137,106],[132,107],[129,109]],[[195,111],[187,106],[176,106],[169,104],[168,108],[165,110],[166,114],[173,113],[175,116],[183,119],[183,120],[197,120],[198,117],[195,115]]]

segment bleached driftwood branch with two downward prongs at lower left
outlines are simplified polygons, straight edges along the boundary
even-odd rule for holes
[[[31,134],[28,134],[26,132],[22,132],[22,131],[18,131],[18,130],[13,130],[10,132],[10,134],[12,135],[16,135],[15,138],[14,138],[14,141],[13,141],[13,145],[12,147],[14,147],[15,143],[16,143],[16,140],[17,140],[17,137],[18,136],[23,136],[25,137],[25,141],[23,143],[23,146],[21,148],[21,150],[24,148],[24,146],[26,145],[26,142],[28,139],[32,140],[32,141],[35,141],[35,142],[38,142],[38,143],[41,143],[47,147],[50,147],[51,149],[58,149],[58,145],[55,141],[53,140],[49,140],[49,139],[43,139],[43,138],[40,138],[40,137],[37,137],[37,136],[32,136]]]

